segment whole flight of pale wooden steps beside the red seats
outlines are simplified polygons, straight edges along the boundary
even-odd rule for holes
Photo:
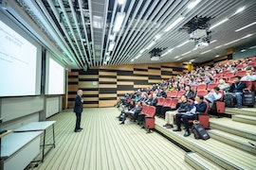
[[[191,150],[184,159],[195,169],[256,169],[256,109],[228,111],[232,119],[210,118],[207,141],[165,128],[159,118],[155,118],[155,129]]]

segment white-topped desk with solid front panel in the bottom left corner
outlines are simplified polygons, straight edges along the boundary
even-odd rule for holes
[[[1,159],[5,170],[24,169],[40,153],[42,131],[10,133],[2,139]]]

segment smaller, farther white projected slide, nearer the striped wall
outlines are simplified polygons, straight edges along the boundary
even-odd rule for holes
[[[64,67],[51,58],[49,58],[48,64],[48,91],[46,94],[63,94]]]

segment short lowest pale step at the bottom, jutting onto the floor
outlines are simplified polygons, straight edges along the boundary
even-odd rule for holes
[[[206,159],[202,155],[196,153],[196,152],[188,152],[185,154],[185,161],[188,162],[194,169],[223,169],[213,161],[210,161],[209,159]]]

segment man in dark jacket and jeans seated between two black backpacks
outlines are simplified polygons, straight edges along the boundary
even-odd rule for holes
[[[225,94],[232,94],[236,98],[236,105],[238,109],[242,108],[242,95],[243,89],[247,88],[247,84],[241,82],[241,76],[235,76],[233,83],[229,88],[229,93]]]

